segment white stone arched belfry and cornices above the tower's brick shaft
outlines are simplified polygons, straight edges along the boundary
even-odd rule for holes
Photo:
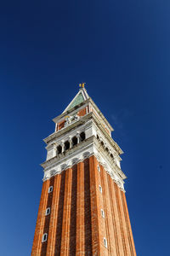
[[[99,164],[104,166],[105,172],[108,172],[124,191],[123,180],[126,176],[120,165],[122,150],[113,141],[111,134],[105,131],[106,126],[107,130],[111,126],[106,123],[102,113],[94,113],[90,104],[86,101],[79,108],[74,108],[69,113],[71,118],[65,118],[64,127],[44,139],[47,143],[47,159],[42,163],[43,181],[94,155]],[[77,117],[77,112],[82,108],[87,108],[86,114]],[[63,117],[61,114],[59,118],[54,119],[56,125]]]

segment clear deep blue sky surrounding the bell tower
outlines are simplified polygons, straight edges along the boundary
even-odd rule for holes
[[[87,83],[115,131],[139,256],[169,255],[170,1],[0,3],[1,255],[31,253],[51,119]]]

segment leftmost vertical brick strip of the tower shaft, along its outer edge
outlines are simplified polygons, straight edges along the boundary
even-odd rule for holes
[[[49,180],[42,183],[42,195],[41,195],[39,209],[37,213],[37,224],[36,224],[31,256],[41,255],[42,235],[43,235],[42,232],[43,232],[44,222],[45,222],[44,212],[47,207],[47,201],[48,201],[48,187],[49,187]]]

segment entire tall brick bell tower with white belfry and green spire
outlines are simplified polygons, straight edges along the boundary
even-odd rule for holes
[[[31,255],[134,256],[122,149],[80,87],[44,139],[47,159]]]

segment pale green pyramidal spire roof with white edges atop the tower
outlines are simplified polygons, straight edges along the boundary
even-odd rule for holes
[[[85,88],[81,88],[78,91],[77,95],[74,97],[74,99],[71,101],[71,103],[65,108],[63,113],[65,113],[66,111],[70,110],[71,108],[76,107],[80,103],[88,100],[88,98],[89,98],[89,96],[88,96],[87,90]]]

